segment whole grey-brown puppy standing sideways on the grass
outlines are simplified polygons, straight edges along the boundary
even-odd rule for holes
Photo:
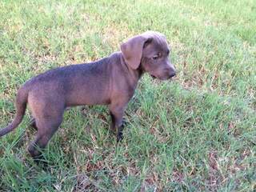
[[[26,104],[30,106],[37,135],[28,150],[33,158],[40,158],[58,126],[67,106],[108,105],[112,119],[111,129],[122,138],[122,117],[138,80],[144,72],[166,80],[175,75],[169,60],[170,49],[166,38],[148,31],[130,38],[121,45],[121,52],[97,62],[64,66],[31,78],[16,97],[16,116],[0,137],[14,130],[22,122]]]

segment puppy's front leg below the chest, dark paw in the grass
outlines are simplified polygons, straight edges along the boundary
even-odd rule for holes
[[[111,116],[111,130],[117,133],[117,142],[122,140],[122,130],[124,128],[122,123],[122,117],[125,111],[126,105],[110,105],[110,116]]]

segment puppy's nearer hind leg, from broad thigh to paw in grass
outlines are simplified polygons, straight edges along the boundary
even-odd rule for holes
[[[37,128],[37,134],[34,141],[30,142],[28,151],[37,162],[43,158],[41,150],[46,148],[62,123],[65,103],[58,96],[54,96],[38,91],[31,92],[29,96],[30,110],[35,119],[31,121],[31,125]]]

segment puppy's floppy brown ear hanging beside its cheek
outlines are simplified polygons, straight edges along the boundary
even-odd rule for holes
[[[142,50],[146,42],[152,41],[148,35],[137,35],[134,38],[128,39],[127,42],[122,43],[122,55],[126,63],[134,70],[138,69],[142,60]]]

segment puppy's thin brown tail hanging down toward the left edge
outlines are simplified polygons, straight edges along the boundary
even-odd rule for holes
[[[26,90],[26,87],[23,86],[18,90],[18,94],[16,97],[15,118],[13,122],[10,123],[9,126],[6,126],[6,128],[3,128],[2,130],[0,130],[0,137],[14,130],[22,122],[22,118],[26,111],[27,97],[28,97],[28,90]]]

